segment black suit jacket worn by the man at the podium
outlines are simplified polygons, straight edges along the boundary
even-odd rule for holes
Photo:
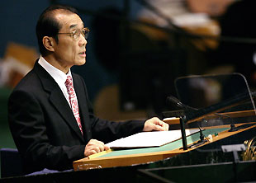
[[[91,138],[107,143],[143,129],[144,121],[117,123],[97,118],[92,114],[83,78],[73,74],[73,85],[83,135],[59,85],[39,63],[13,90],[8,120],[26,172],[70,169],[73,161],[83,158]]]

